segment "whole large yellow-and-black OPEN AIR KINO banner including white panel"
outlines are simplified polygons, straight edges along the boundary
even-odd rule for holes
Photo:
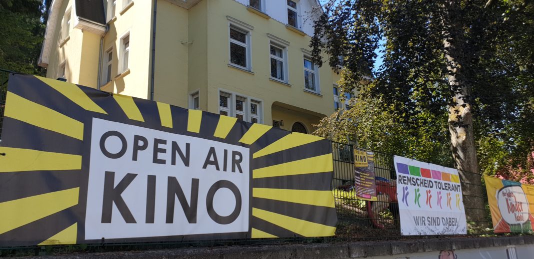
[[[0,246],[333,236],[329,141],[12,74]]]

